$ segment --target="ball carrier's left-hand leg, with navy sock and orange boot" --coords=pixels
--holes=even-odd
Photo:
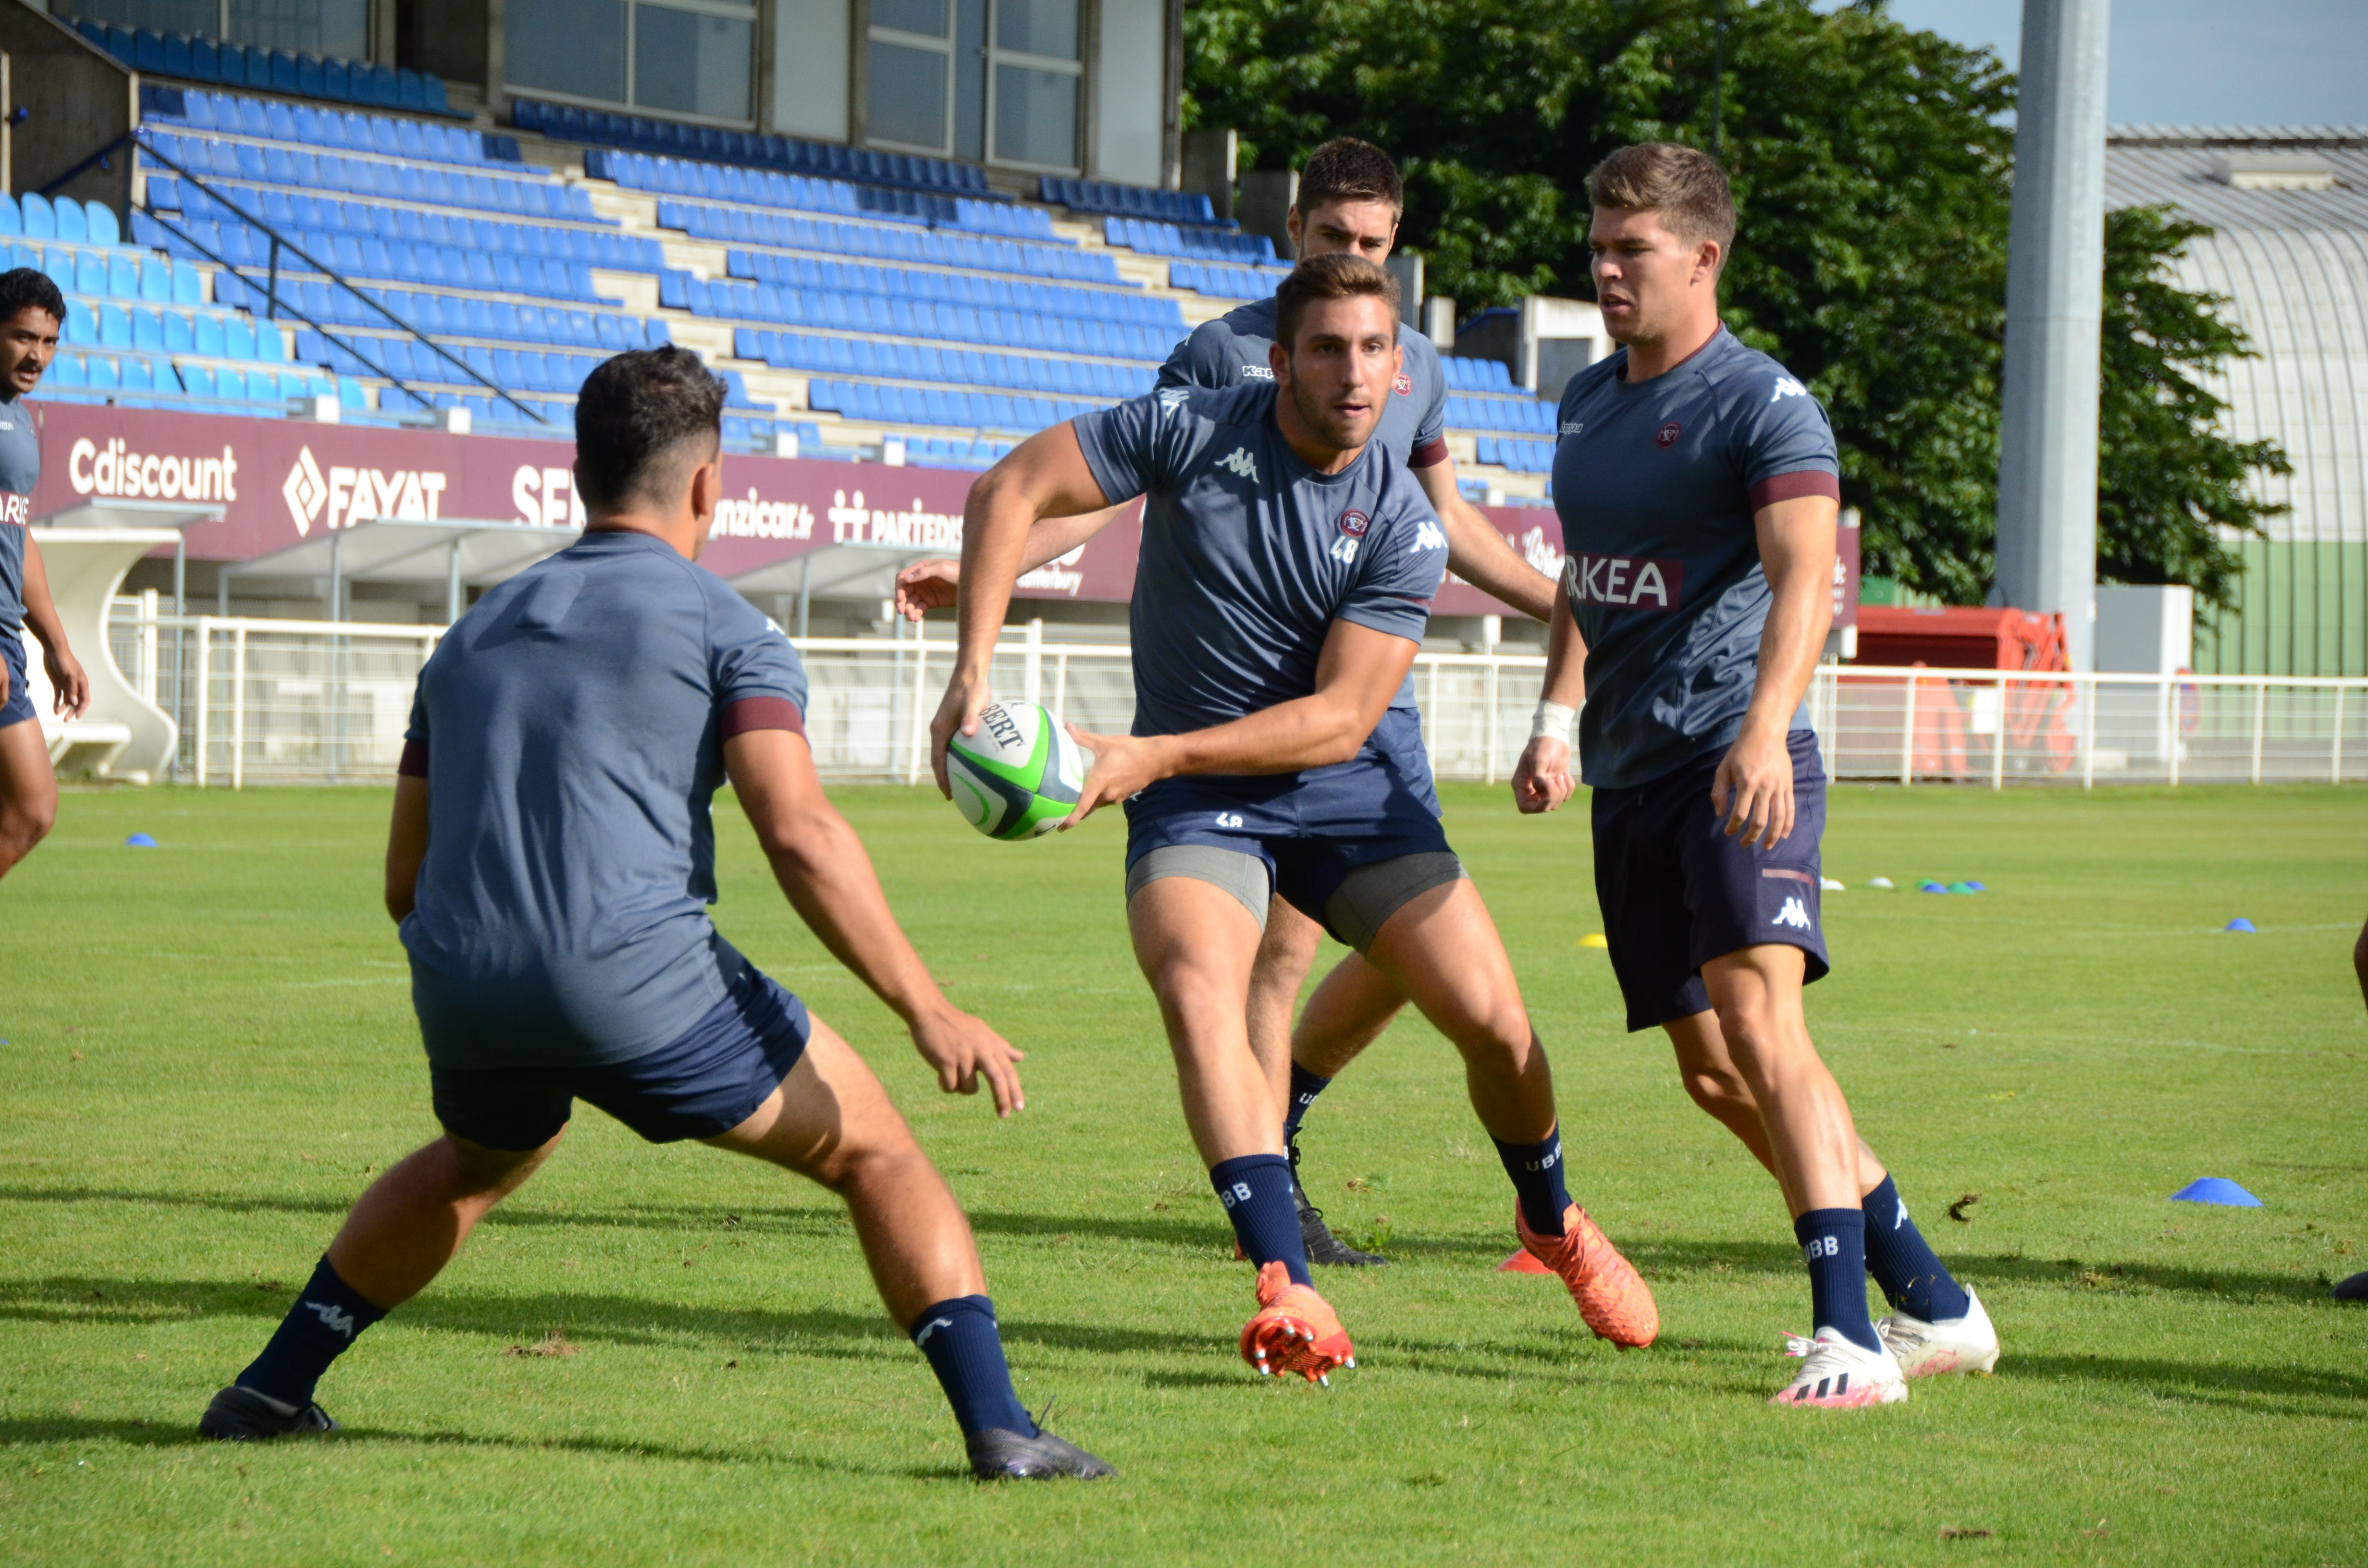
[[[1333,1367],[1357,1360],[1340,1319],[1307,1279],[1283,1113],[1250,1052],[1246,1004],[1257,919],[1215,883],[1160,876],[1127,900],[1127,928],[1167,1026],[1184,1125],[1234,1222],[1238,1251],[1257,1267],[1257,1315],[1241,1331],[1241,1357],[1260,1374],[1326,1381]]]

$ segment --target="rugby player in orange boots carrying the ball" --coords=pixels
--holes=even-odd
[[[1307,1279],[1283,1113],[1248,1042],[1274,895],[1456,1045],[1523,1246],[1563,1277],[1589,1329],[1650,1343],[1650,1291],[1563,1189],[1546,1054],[1428,775],[1409,765],[1418,739],[1390,732],[1447,564],[1421,486],[1373,441],[1404,365],[1397,284],[1357,256],[1302,261],[1276,291],[1267,365],[1272,381],[1163,388],[1042,431],[971,488],[961,651],[931,722],[938,786],[947,739],[976,732],[990,699],[1030,528],[1148,495],[1134,734],[1070,727],[1094,765],[1063,827],[1125,801],[1134,957],[1184,1120],[1257,1267],[1243,1360],[1310,1379],[1352,1364]]]

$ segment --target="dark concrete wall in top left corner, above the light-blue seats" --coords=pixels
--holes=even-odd
[[[140,123],[140,78],[21,0],[0,2],[0,54],[9,64],[9,114],[24,111],[7,137],[9,194],[45,189]],[[128,227],[133,161],[118,149],[54,194],[111,206]]]

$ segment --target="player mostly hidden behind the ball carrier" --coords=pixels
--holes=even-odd
[[[1364,256],[1381,265],[1397,244],[1404,204],[1407,187],[1390,154],[1371,142],[1333,137],[1317,147],[1307,156],[1307,168],[1300,171],[1298,199],[1286,216],[1291,244],[1300,258]],[[1397,343],[1404,351],[1404,365],[1390,386],[1373,441],[1414,471],[1447,533],[1447,568],[1520,613],[1549,621],[1553,616],[1553,580],[1513,554],[1504,535],[1456,490],[1456,464],[1447,455],[1447,377],[1440,372],[1437,348],[1404,324],[1397,329]],[[1260,298],[1236,306],[1217,320],[1201,322],[1189,339],[1177,343],[1160,367],[1160,386],[1227,391],[1243,381],[1272,381],[1274,369],[1267,362],[1272,346],[1274,301]],[[1028,533],[1021,571],[1068,554],[1101,533],[1113,516],[1118,516],[1115,509],[1044,519]],[[924,611],[954,604],[959,576],[959,561],[907,566],[897,573],[897,609],[919,621]],[[1430,756],[1421,746],[1421,713],[1414,708],[1411,677],[1390,701],[1385,730],[1407,741],[1399,760],[1411,777],[1421,779],[1416,791],[1430,798]],[[1435,801],[1433,810],[1437,810]],[[1291,1153],[1293,1177],[1300,1165],[1300,1118],[1404,1004],[1404,997],[1373,964],[1350,952],[1326,976],[1319,995],[1310,1000],[1298,1035],[1293,1035],[1291,1014],[1298,1007],[1300,985],[1317,962],[1321,938],[1324,928],[1276,893],[1267,910],[1267,933],[1260,940],[1257,962],[1250,969],[1250,1052],[1272,1080],[1276,1104],[1286,1106],[1283,1146]],[[1324,1225],[1324,1210],[1307,1201],[1307,1191],[1298,1182],[1293,1182],[1293,1203],[1310,1262],[1345,1267],[1385,1262],[1333,1236],[1331,1227]]]

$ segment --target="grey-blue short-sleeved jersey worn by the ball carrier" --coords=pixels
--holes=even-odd
[[[1274,381],[1167,386],[1075,419],[1111,502],[1148,495],[1134,566],[1134,734],[1224,725],[1317,689],[1333,621],[1423,640],[1447,535],[1383,443],[1317,474]]]

